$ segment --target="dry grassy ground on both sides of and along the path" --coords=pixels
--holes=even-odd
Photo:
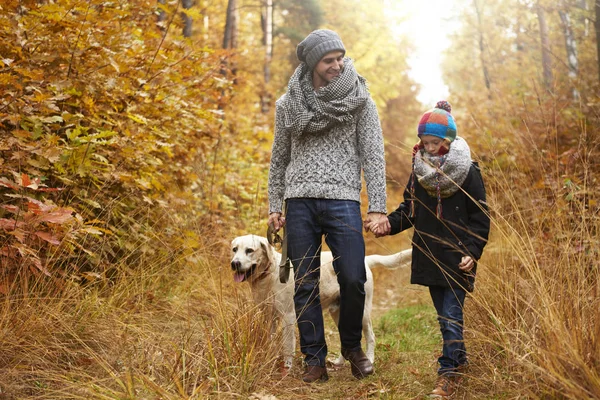
[[[509,175],[487,179],[492,236],[467,300],[471,369],[456,398],[600,398],[598,207],[580,194],[597,188],[515,191]],[[414,399],[432,388],[439,332],[408,270],[374,271],[376,374],[331,369],[329,382],[304,385],[300,354],[281,376],[280,338],[232,281],[226,236],[59,295],[44,281],[13,288],[0,300],[0,399]],[[409,236],[369,237],[368,252]],[[336,354],[328,320],[327,335]]]

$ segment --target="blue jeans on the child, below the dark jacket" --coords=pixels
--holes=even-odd
[[[463,336],[463,307],[467,292],[442,286],[430,286],[429,294],[438,314],[444,344],[438,375],[453,375],[467,364],[467,349]]]

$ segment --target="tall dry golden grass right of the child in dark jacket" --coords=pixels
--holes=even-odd
[[[490,387],[530,398],[600,398],[600,218],[589,162],[598,143],[582,135],[568,174],[544,162],[543,150],[526,148],[533,172],[487,177],[495,212],[466,314],[471,354]]]

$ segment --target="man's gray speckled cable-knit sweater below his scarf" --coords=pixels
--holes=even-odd
[[[290,133],[282,103],[275,111],[275,139],[269,170],[269,213],[282,212],[290,198],[360,202],[361,169],[368,212],[386,212],[385,158],[377,107],[371,98],[352,121],[321,133]]]

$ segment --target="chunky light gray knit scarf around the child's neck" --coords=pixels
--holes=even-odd
[[[443,156],[417,151],[414,173],[419,183],[432,197],[450,197],[465,182],[471,168],[471,149],[457,137]]]

